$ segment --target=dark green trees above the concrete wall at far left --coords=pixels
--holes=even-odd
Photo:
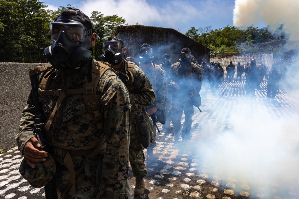
[[[38,0],[0,0],[0,60],[44,62],[43,50],[48,42],[47,7]]]

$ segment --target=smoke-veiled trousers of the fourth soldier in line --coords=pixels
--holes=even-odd
[[[170,115],[173,127],[176,131],[176,138],[179,138],[179,133],[181,131],[181,117],[183,112],[185,115],[185,122],[182,129],[182,138],[189,139],[192,126],[192,116],[194,114],[193,104],[191,104],[190,100],[187,102],[174,100],[170,109]]]

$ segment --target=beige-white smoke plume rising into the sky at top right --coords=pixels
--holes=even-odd
[[[299,1],[236,0],[233,22],[236,27],[248,27],[263,22],[271,33],[283,24],[290,41],[299,40]]]

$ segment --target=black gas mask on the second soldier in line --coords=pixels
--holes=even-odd
[[[123,45],[117,40],[109,40],[103,43],[104,54],[101,58],[104,62],[110,63],[112,66],[118,65],[124,58]]]

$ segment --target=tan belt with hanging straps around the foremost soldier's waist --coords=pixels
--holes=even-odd
[[[59,159],[59,157],[62,157],[65,167],[70,172],[71,182],[68,185],[68,187],[65,189],[65,192],[63,193],[61,198],[64,197],[64,195],[66,194],[66,192],[68,192],[68,190],[70,188],[71,188],[71,195],[75,196],[75,190],[76,190],[75,181],[78,178],[78,176],[81,175],[83,172],[85,172],[85,176],[91,177],[90,166],[91,166],[94,158],[97,156],[97,154],[101,150],[106,148],[107,144],[105,141],[106,141],[105,136],[103,136],[103,138],[100,141],[100,143],[98,144],[98,146],[96,146],[92,149],[86,149],[86,150],[67,150],[67,149],[60,149],[57,147],[52,148],[52,154],[55,157],[55,158],[53,157],[54,160]],[[71,156],[80,156],[80,155],[86,155],[87,157],[84,160],[81,168],[75,173],[74,163],[72,161]],[[103,159],[103,157],[104,157],[104,155],[102,156],[102,159]],[[101,161],[101,162],[103,163],[103,161]],[[102,170],[102,165],[100,165],[100,170]]]

